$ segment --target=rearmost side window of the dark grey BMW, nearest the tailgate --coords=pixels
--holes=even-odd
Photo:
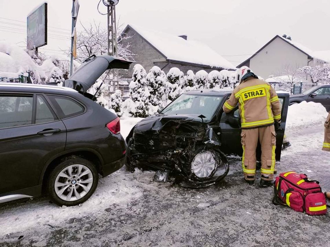
[[[55,107],[63,113],[62,118],[79,115],[84,112],[84,108],[78,102],[62,96],[49,96]]]

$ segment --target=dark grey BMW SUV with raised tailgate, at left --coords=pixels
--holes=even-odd
[[[0,83],[0,203],[46,191],[56,204],[74,206],[92,195],[98,174],[123,166],[119,118],[86,90],[105,70],[130,63],[93,56],[66,87]]]

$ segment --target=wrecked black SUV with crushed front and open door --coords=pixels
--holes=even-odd
[[[231,91],[189,91],[159,114],[137,123],[126,138],[126,166],[157,171],[155,178],[173,176],[182,186],[205,187],[223,179],[229,159],[242,157],[238,106],[229,114],[222,105]],[[276,160],[280,161],[289,94],[278,92],[282,105],[277,129]],[[260,161],[260,145],[257,160]]]

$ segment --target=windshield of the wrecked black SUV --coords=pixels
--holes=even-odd
[[[210,121],[219,106],[222,96],[202,96],[182,94],[161,113],[163,114],[198,114],[204,115],[203,121]]]

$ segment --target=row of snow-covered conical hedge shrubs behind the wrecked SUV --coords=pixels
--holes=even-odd
[[[136,64],[129,84],[130,96],[123,103],[123,115],[145,118],[160,112],[168,101],[190,90],[235,88],[235,73],[213,70],[208,74],[205,70],[200,70],[195,75],[192,70],[188,70],[184,75],[180,69],[173,67],[165,74],[154,66],[147,74],[140,64]]]

